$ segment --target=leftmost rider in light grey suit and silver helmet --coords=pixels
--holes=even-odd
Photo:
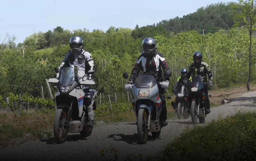
[[[95,72],[93,74],[86,74],[88,70],[94,69],[94,63],[92,60],[92,55],[83,50],[84,47],[84,40],[81,36],[74,36],[69,41],[69,46],[71,51],[68,52],[62,61],[60,67],[59,67],[59,73],[57,74],[57,77],[60,78],[60,74],[62,72],[62,69],[65,67],[72,67],[75,70],[75,79],[78,80],[78,82],[84,81],[84,80],[91,80],[95,77]],[[87,109],[87,117],[88,122],[86,125],[88,127],[93,127],[93,106],[91,101],[91,95],[90,95],[90,88],[89,86],[83,86],[84,91],[84,105]]]

